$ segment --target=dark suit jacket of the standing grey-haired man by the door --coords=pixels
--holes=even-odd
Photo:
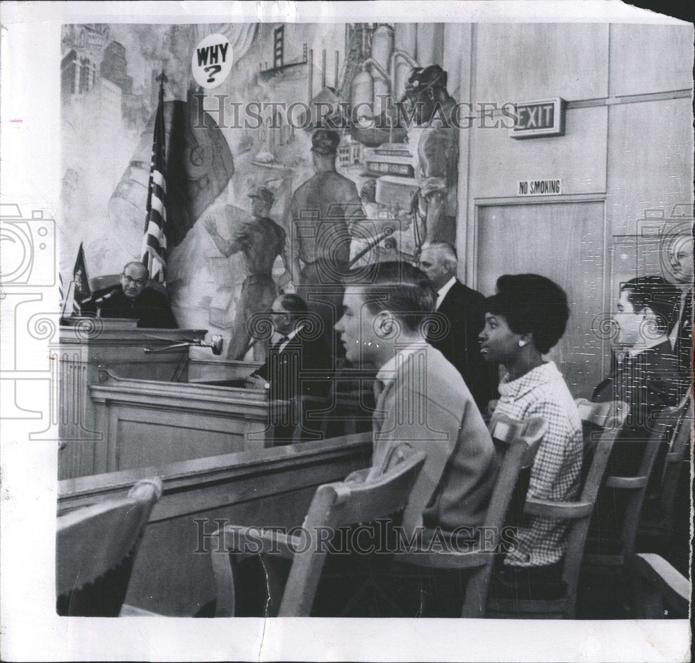
[[[432,333],[427,335],[427,342],[439,350],[464,378],[478,408],[483,411],[498,395],[498,369],[482,358],[478,342],[478,334],[485,326],[484,301],[480,292],[455,281],[436,310],[448,321],[445,335],[441,338]]]

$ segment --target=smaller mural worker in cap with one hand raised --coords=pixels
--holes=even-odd
[[[217,230],[213,218],[207,218],[205,229],[213,238],[215,246],[225,257],[241,253],[244,259],[246,279],[236,308],[231,338],[227,345],[227,359],[243,359],[253,341],[249,321],[254,314],[270,310],[277,297],[277,287],[272,280],[272,265],[279,255],[285,272],[279,285],[289,282],[290,273],[285,254],[285,231],[268,216],[275,196],[265,186],[259,186],[250,194],[252,218],[238,223],[231,239],[224,239]],[[254,360],[265,360],[265,343],[254,344]]]

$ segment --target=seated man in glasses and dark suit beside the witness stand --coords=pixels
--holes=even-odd
[[[321,409],[320,399],[330,385],[327,353],[317,332],[320,326],[309,318],[306,302],[296,294],[283,294],[272,303],[270,314],[280,340],[270,347],[265,364],[246,379],[246,386],[268,390],[269,421],[275,426],[277,446],[291,443],[298,425],[305,433],[316,433],[319,422],[308,414]],[[304,404],[299,397],[304,397]],[[285,416],[282,410],[275,411],[275,401],[290,401]],[[306,437],[318,439],[316,434]]]

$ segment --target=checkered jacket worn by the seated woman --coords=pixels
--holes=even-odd
[[[572,395],[555,363],[532,369],[514,381],[502,379],[493,420],[507,415],[523,421],[544,417],[548,432],[531,468],[528,497],[539,500],[573,500],[582,470],[582,422]],[[518,549],[507,554],[505,564],[546,566],[562,559],[567,524],[548,518],[530,518],[518,530]]]

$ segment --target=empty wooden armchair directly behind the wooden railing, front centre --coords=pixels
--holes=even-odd
[[[400,447],[395,449],[389,470],[375,481],[319,486],[302,525],[301,532],[307,532],[308,537],[236,525],[218,530],[213,536],[220,538],[221,545],[211,550],[217,593],[215,616],[239,614],[236,589],[243,577],[238,564],[257,556],[268,584],[266,616],[275,616],[276,611],[281,617],[309,616],[327,558],[327,541],[320,533],[336,532],[339,527],[372,522],[402,511],[425,463],[424,454],[406,457],[406,453]],[[286,583],[272,564],[266,564],[274,556],[291,561]]]

